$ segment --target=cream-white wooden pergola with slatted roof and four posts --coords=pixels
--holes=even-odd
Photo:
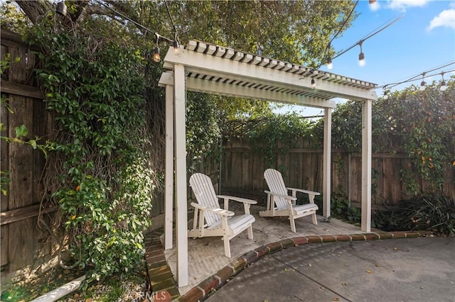
[[[178,287],[188,285],[186,177],[186,91],[264,99],[324,109],[323,216],[331,216],[331,112],[334,98],[363,102],[362,224],[371,225],[371,106],[377,84],[312,70],[225,47],[191,40],[177,55],[170,47],[159,85],[166,88],[166,191],[164,248],[173,247],[173,198],[176,203]],[[311,85],[311,79],[316,87]],[[174,179],[175,177],[175,179]],[[258,176],[260,177],[260,176]],[[174,182],[175,180],[175,182]],[[174,194],[175,193],[175,194]]]

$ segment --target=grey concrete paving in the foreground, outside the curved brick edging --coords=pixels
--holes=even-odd
[[[253,262],[207,301],[455,301],[455,237],[291,247]]]

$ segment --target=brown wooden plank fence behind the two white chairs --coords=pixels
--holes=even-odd
[[[286,148],[285,148],[286,149]],[[401,180],[402,169],[410,169],[411,160],[405,154],[376,153],[372,155],[372,207],[394,206],[407,199],[406,188]],[[264,181],[266,166],[264,155],[253,152],[250,145],[241,139],[231,139],[225,145],[225,155],[221,164],[220,183],[223,194],[233,194],[252,198],[265,204]],[[309,148],[303,140],[298,140],[287,152],[277,151],[277,160],[272,167],[283,173],[285,184],[290,187],[321,191],[323,185],[322,150]],[[353,206],[360,207],[362,182],[361,155],[334,150],[331,164],[332,194],[341,189]],[[444,177],[444,193],[455,196],[455,169],[447,164]],[[419,188],[427,184],[416,179]]]

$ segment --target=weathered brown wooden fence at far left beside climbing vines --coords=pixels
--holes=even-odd
[[[1,136],[15,138],[15,128],[25,125],[28,129],[26,140],[36,136],[46,138],[50,131],[48,113],[41,91],[34,85],[33,68],[35,55],[16,35],[1,29],[1,60],[9,57],[9,68],[1,74],[1,98],[5,101],[0,108],[4,130]],[[37,228],[38,214],[43,223],[56,208],[41,208],[43,184],[41,175],[45,167],[43,152],[33,150],[30,145],[18,142],[0,142],[1,171],[9,174],[9,194],[1,194],[1,271],[2,277],[9,272],[36,264],[38,255],[43,258],[50,254],[50,242],[43,240],[43,233]]]

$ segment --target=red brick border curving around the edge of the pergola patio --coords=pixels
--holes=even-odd
[[[255,250],[246,252],[245,254],[232,259],[228,265],[220,269],[212,276],[209,276],[204,281],[200,282],[200,284],[197,286],[194,286],[193,289],[185,293],[183,296],[180,296],[172,274],[171,276],[168,274],[171,269],[169,268],[167,262],[159,262],[161,264],[161,267],[159,268],[156,267],[157,263],[153,262],[153,260],[156,259],[156,256],[164,255],[164,247],[161,245],[159,237],[157,237],[156,234],[151,234],[147,237],[148,240],[146,240],[146,245],[149,246],[146,247],[146,263],[151,284],[155,290],[154,296],[162,296],[161,292],[167,292],[168,295],[171,296],[172,301],[197,302],[204,301],[212,293],[220,289],[224,284],[226,284],[226,282],[242,272],[253,262],[257,262],[259,259],[262,259],[262,257],[274,252],[286,250],[289,247],[306,245],[308,243],[416,238],[425,237],[431,234],[432,232],[429,231],[385,232],[382,230],[373,230],[371,233],[358,233],[349,235],[308,235],[270,242],[267,245],[262,245],[260,247],[257,247]],[[158,275],[156,275],[158,272],[157,269],[160,272]],[[161,276],[164,278],[160,278]]]

